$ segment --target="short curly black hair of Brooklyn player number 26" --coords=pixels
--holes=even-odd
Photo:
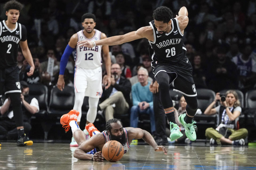
[[[173,18],[173,11],[166,6],[160,6],[156,8],[153,12],[153,19],[157,21],[163,21],[163,23],[168,23],[171,18]]]

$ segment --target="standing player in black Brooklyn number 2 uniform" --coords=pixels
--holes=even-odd
[[[13,103],[14,120],[18,130],[17,146],[33,145],[24,134],[23,113],[21,109],[21,85],[19,82],[19,69],[17,67],[18,48],[29,63],[28,76],[34,73],[34,62],[27,46],[26,27],[18,23],[19,12],[23,5],[17,1],[8,1],[4,5],[7,20],[0,22],[0,99],[5,88],[5,95]],[[1,145],[1,144],[0,144]]]

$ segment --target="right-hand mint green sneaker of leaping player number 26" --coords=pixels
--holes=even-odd
[[[192,123],[187,124],[185,122],[185,116],[186,113],[179,115],[179,122],[181,122],[181,124],[184,126],[185,128],[185,133],[187,135],[187,137],[191,140],[194,141],[195,139],[197,139],[197,134],[195,134],[195,128],[197,127],[196,125],[194,125],[195,121],[192,120]]]

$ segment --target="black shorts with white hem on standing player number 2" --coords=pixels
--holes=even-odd
[[[21,93],[19,69],[17,66],[0,69],[0,97],[2,97],[3,91],[5,91],[5,94]]]

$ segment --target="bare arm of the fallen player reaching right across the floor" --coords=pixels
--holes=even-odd
[[[154,138],[152,137],[152,135],[146,130],[142,130],[140,128],[132,128],[132,127],[128,127],[125,129],[127,130],[129,142],[132,141],[132,139],[143,139],[150,146],[152,146],[155,151],[163,151],[165,155],[167,155],[167,149],[163,146],[158,146]]]

